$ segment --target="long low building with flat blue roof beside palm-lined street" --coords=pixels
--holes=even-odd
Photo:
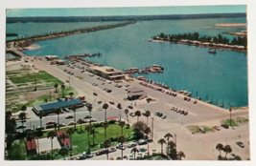
[[[58,108],[71,108],[72,106],[83,107],[80,99],[74,98],[70,100],[58,100],[57,102],[51,102],[46,104],[33,105],[33,111],[35,114],[42,113],[43,115],[55,113]]]

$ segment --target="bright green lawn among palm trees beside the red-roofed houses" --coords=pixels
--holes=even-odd
[[[66,131],[71,127],[67,128],[61,128],[60,131]],[[74,135],[71,136],[72,144],[74,146],[73,149],[73,155],[78,155],[83,152],[88,151],[88,133],[84,132],[85,125],[77,126],[77,131],[74,133]],[[94,140],[93,144],[93,136],[89,135],[90,140],[90,151],[97,151],[101,149],[99,147],[99,144],[104,143],[105,141],[105,129],[103,127],[95,128],[97,134]],[[43,137],[46,137],[49,132],[45,132]],[[128,134],[132,133],[132,129],[123,129],[123,134],[128,137]],[[117,124],[110,124],[108,128],[106,129],[106,138],[109,139],[110,137],[118,137],[121,135],[121,127]],[[117,145],[118,142],[111,142],[112,146]]]

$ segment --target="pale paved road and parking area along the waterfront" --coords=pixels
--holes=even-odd
[[[29,58],[30,61],[33,59],[33,57]],[[103,81],[98,80],[96,76],[91,77],[88,75],[88,73],[81,73],[81,70],[70,69],[67,66],[51,66],[39,60],[35,60],[33,63],[35,64],[36,68],[45,70],[47,73],[57,76],[58,79],[62,80],[63,82],[69,80],[70,77],[71,87],[78,91],[78,95],[85,95],[87,101],[91,103],[94,102],[94,108],[98,107],[95,100],[102,100],[105,102],[114,101],[115,106],[109,105],[109,109],[107,111],[109,115],[118,116],[116,103],[122,103],[123,108],[127,108],[128,105],[131,104],[131,101],[124,100],[124,98],[127,97],[127,92],[125,91],[126,88],[124,88],[124,86],[122,88],[116,88],[114,87],[113,83],[105,83],[105,85],[102,85]],[[62,71],[64,69],[74,72],[74,75],[63,73]],[[83,79],[81,80],[75,76],[81,76]],[[97,83],[98,86],[92,86],[92,83]],[[126,83],[123,83],[123,85],[125,84]],[[177,135],[177,150],[185,153],[186,157],[184,159],[216,160],[219,152],[215,150],[215,146],[218,143],[222,143],[224,145],[230,144],[233,148],[234,154],[241,156],[244,160],[249,157],[249,145],[247,144],[247,142],[249,142],[249,133],[247,124],[235,128],[235,130],[223,130],[221,128],[220,132],[212,132],[205,135],[192,135],[191,132],[187,130],[187,126],[192,124],[210,127],[214,125],[220,126],[221,119],[229,117],[229,112],[227,110],[200,101],[198,101],[198,104],[193,104],[191,101],[184,101],[183,96],[180,94],[174,97],[165,93],[155,92],[149,88],[139,85],[138,81],[129,82],[128,84],[147,91],[151,98],[155,98],[157,100],[151,103],[147,103],[145,100],[137,101],[137,105],[134,107],[134,109],[129,110],[129,112],[133,112],[135,110],[140,110],[142,112],[144,110],[150,110],[151,114],[161,112],[167,115],[166,119],[161,119],[155,115],[151,115],[151,117],[153,117],[152,131],[154,142],[151,144],[153,149],[160,152],[160,145],[157,144],[157,140],[162,138],[166,133],[171,133],[173,135]],[[103,91],[104,88],[111,89],[112,93],[105,93],[105,91]],[[98,93],[97,97],[92,94],[94,92]],[[134,105],[134,102],[132,103]],[[172,106],[186,110],[189,112],[189,114],[177,114],[171,111]],[[83,114],[82,116],[84,116],[86,111],[82,111],[81,109],[81,112],[78,111],[78,114],[80,113]],[[62,115],[61,122],[62,120],[65,120],[64,116],[65,114]],[[97,112],[97,109],[95,109],[93,116],[101,120],[104,117],[104,114],[101,111]],[[237,116],[248,117],[248,111],[234,111],[232,116],[233,118]],[[151,124],[152,121],[151,117],[149,118],[149,124]],[[50,118],[56,118],[56,116]],[[122,114],[122,118],[126,119],[126,115]],[[44,119],[43,123],[45,123],[47,120]],[[128,120],[132,124],[137,121],[137,118],[128,116]],[[145,116],[141,116],[140,120],[146,122],[147,119]],[[35,119],[35,123],[38,124],[36,121],[38,120]],[[236,145],[239,135],[243,135],[241,141],[243,141],[245,144],[244,149],[240,149]]]

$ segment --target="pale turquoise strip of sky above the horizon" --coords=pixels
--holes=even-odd
[[[30,16],[113,16],[160,15],[246,12],[245,5],[187,6],[187,7],[137,7],[137,8],[80,8],[80,9],[7,9],[7,17]]]

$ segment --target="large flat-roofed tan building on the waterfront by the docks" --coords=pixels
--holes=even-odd
[[[118,80],[118,79],[125,79],[125,75],[123,72],[118,71],[114,68],[110,67],[91,67],[87,70],[88,72],[94,73],[96,75],[99,75],[101,77],[104,77],[105,79],[109,80]]]

